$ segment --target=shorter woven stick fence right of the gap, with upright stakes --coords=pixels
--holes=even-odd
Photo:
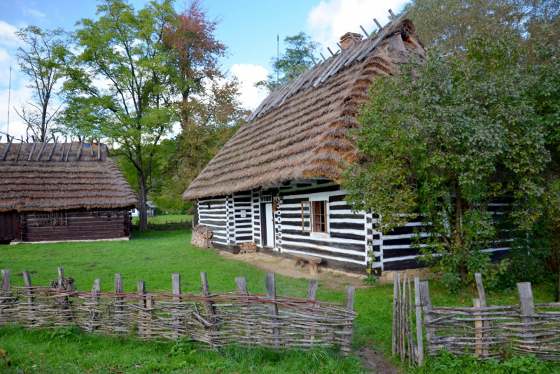
[[[480,273],[475,274],[479,297],[472,307],[432,305],[428,282],[395,273],[393,288],[393,355],[402,363],[422,365],[441,350],[476,354],[479,359],[504,359],[507,354],[535,354],[560,362],[560,303],[534,303],[530,282],[517,283],[519,304],[486,305]],[[423,317],[422,317],[423,316]],[[423,322],[422,322],[423,319]],[[416,339],[414,338],[416,335]],[[424,347],[425,345],[425,347]]]

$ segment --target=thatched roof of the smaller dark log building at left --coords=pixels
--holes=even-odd
[[[0,143],[0,212],[137,206],[105,145],[98,153],[97,144],[57,143],[51,156],[54,144],[13,143],[3,159],[8,143]]]

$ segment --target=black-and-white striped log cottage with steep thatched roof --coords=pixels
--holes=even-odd
[[[377,216],[351,211],[337,180],[344,161],[359,159],[347,138],[376,75],[391,74],[426,51],[409,20],[367,38],[348,33],[342,52],[278,87],[191,183],[200,224],[214,246],[254,242],[262,252],[311,255],[321,266],[365,273],[419,268],[410,247],[414,225],[382,234]]]

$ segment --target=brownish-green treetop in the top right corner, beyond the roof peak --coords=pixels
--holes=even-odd
[[[524,35],[520,43],[560,46],[559,0],[412,0],[404,10],[421,41],[444,53],[465,52],[474,35],[500,38],[512,32]]]

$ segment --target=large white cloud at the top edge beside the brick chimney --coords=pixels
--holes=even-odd
[[[363,34],[361,24],[370,33],[377,29],[374,18],[385,25],[388,22],[388,10],[397,13],[405,3],[407,0],[321,0],[307,15],[307,28],[315,41],[335,52],[338,49],[336,43],[346,32]]]

